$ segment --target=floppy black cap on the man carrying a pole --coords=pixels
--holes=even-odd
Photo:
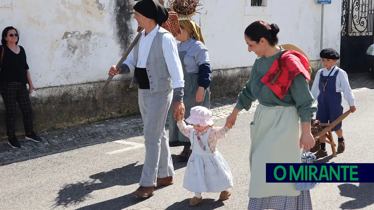
[[[140,0],[134,5],[134,10],[146,18],[155,20],[160,26],[169,18],[168,10],[155,0]]]

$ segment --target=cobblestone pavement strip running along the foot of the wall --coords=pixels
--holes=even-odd
[[[349,77],[353,92],[374,89],[374,80],[369,79],[365,74],[349,75]],[[227,117],[235,103],[236,98],[212,101],[212,119]],[[258,101],[255,101],[251,109],[242,110],[239,114],[254,112],[257,104]],[[166,129],[168,129],[168,122],[166,122]],[[131,116],[44,132],[40,134],[41,142],[21,140],[21,149],[13,149],[6,144],[6,140],[3,140],[0,142],[0,165],[140,135],[143,135],[143,122],[140,116]]]

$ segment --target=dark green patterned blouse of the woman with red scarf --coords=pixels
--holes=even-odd
[[[281,51],[283,48],[281,47]],[[279,53],[281,53],[279,51]],[[301,117],[301,122],[310,122],[317,107],[313,106],[313,96],[310,93],[309,85],[305,77],[299,73],[292,80],[287,94],[280,99],[269,87],[260,81],[269,71],[273,62],[278,58],[279,53],[271,57],[258,57],[253,64],[249,81],[246,82],[243,91],[238,95],[235,108],[238,110],[249,110],[252,102],[256,99],[267,107],[273,106],[295,106]]]

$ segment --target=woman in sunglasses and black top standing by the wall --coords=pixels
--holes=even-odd
[[[5,105],[7,143],[13,148],[21,148],[14,130],[16,103],[23,115],[25,138],[35,142],[41,141],[33,131],[33,116],[29,98],[29,93],[31,90],[35,90],[35,87],[31,81],[25,50],[17,45],[18,41],[19,32],[17,29],[9,26],[3,30],[0,47],[0,94]],[[27,84],[30,87],[29,91],[27,91]]]

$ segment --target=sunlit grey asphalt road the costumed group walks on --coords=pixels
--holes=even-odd
[[[374,90],[355,93],[355,97],[357,111],[343,121],[346,151],[332,158],[327,147],[330,156],[318,162],[374,162]],[[347,110],[347,103],[344,106]],[[227,139],[218,144],[234,178],[233,194],[227,201],[218,201],[219,194],[203,193],[200,206],[188,206],[193,194],[182,187],[186,163],[175,160],[181,148],[171,149],[176,172],[174,185],[157,189],[148,199],[132,197],[131,192],[138,187],[145,153],[143,138],[134,137],[125,141],[138,144],[107,142],[0,166],[0,209],[245,210],[250,176],[248,124],[252,118],[253,113],[239,115]],[[224,119],[215,122],[216,125],[223,123]],[[334,138],[336,141],[335,134]],[[316,210],[374,209],[374,183],[323,183],[311,194]]]

